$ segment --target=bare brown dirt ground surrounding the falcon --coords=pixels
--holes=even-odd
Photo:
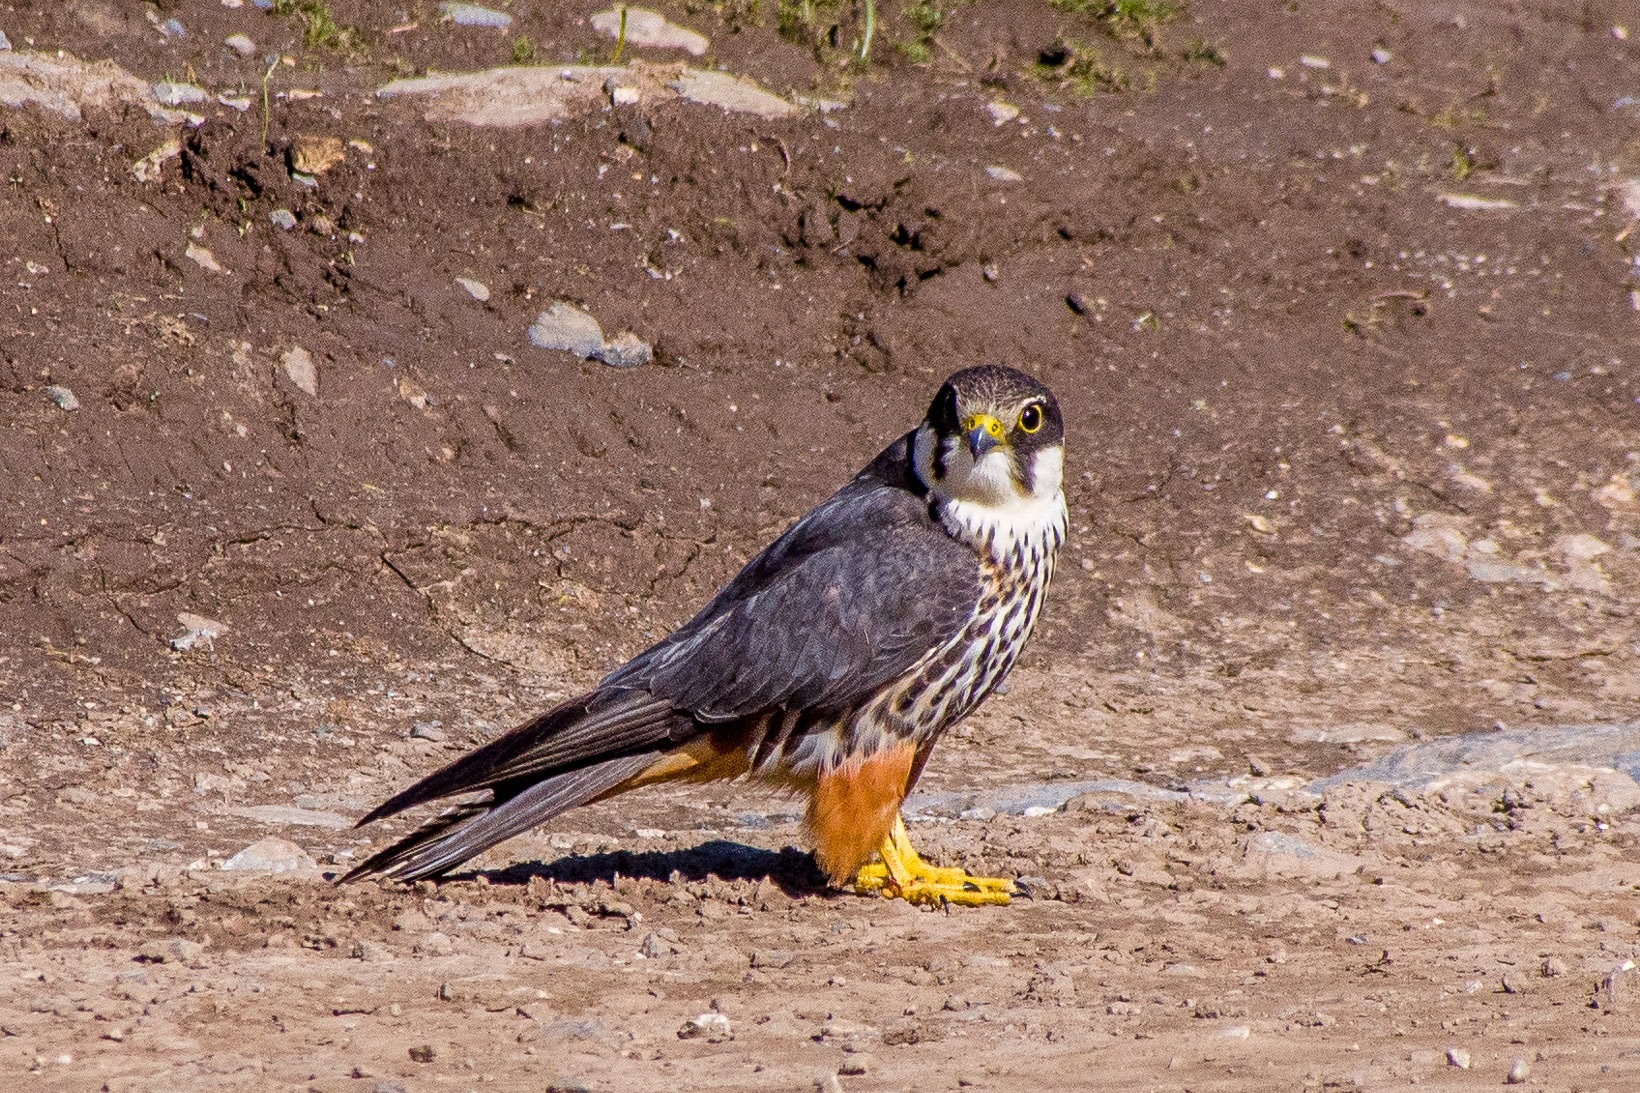
[[[800,108],[377,95],[617,61],[492,7],[0,3],[0,89],[125,87],[0,105],[0,1073],[1640,1088],[1635,752],[1315,784],[1640,720],[1640,11],[877,3],[859,62],[864,5],[686,0],[704,57],[618,61]],[[912,834],[1032,899],[828,893],[741,786],[325,880],[982,361],[1059,394],[1073,543]]]

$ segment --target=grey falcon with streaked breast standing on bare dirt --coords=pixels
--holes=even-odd
[[[440,876],[581,804],[746,778],[805,799],[835,886],[1007,903],[1005,878],[923,862],[900,804],[1036,625],[1066,535],[1063,473],[1048,387],[1000,366],[953,374],[922,423],[674,633],[371,811],[361,825],[469,794],[343,880]]]

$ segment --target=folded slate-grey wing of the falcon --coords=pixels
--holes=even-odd
[[[602,686],[643,689],[702,722],[843,709],[954,638],[981,594],[977,558],[927,502],[858,479]]]

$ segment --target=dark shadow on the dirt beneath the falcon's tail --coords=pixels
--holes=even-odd
[[[620,876],[667,883],[759,881],[769,880],[790,898],[830,891],[812,853],[786,847],[763,850],[727,839],[713,839],[682,850],[612,850],[567,855],[553,862],[520,862],[500,870],[474,870],[451,880],[485,878],[492,885],[528,885],[535,878],[561,885],[615,883]]]

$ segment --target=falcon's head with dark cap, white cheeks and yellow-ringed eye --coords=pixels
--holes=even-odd
[[[933,397],[912,455],[922,482],[950,501],[991,509],[1058,504],[1064,473],[1059,404],[1025,373],[964,368]]]

